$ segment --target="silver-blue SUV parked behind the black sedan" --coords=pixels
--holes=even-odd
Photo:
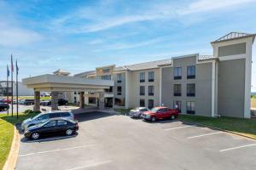
[[[40,113],[37,116],[28,118],[21,123],[21,129],[26,130],[27,127],[32,127],[40,123],[46,122],[51,118],[63,117],[68,120],[74,120],[73,113],[71,111],[52,111],[47,113]]]

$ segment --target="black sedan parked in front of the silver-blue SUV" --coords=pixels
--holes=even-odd
[[[63,118],[49,119],[47,122],[28,127],[24,133],[26,138],[38,139],[41,136],[65,133],[72,135],[79,130],[79,124],[76,121]]]

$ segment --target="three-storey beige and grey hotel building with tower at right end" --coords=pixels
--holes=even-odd
[[[212,55],[188,54],[135,65],[97,67],[74,77],[113,80],[105,106],[133,108],[165,105],[184,114],[250,117],[254,34],[231,32],[211,42]],[[79,102],[78,93],[71,95]],[[97,105],[87,92],[85,105]]]

